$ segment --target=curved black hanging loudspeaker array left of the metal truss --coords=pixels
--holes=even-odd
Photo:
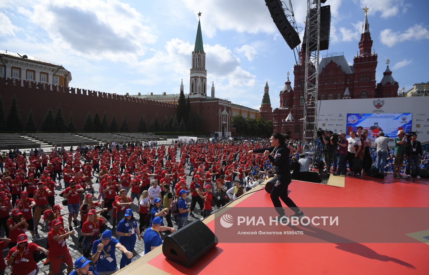
[[[283,36],[284,41],[286,41],[290,49],[298,46],[301,43],[301,39],[299,39],[298,33],[287,20],[281,1],[265,0],[265,4],[271,14],[272,21],[274,21],[281,36]]]

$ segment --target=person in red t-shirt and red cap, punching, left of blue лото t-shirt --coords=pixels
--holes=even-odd
[[[66,245],[66,239],[73,235],[75,231],[66,232],[63,223],[59,219],[52,221],[52,229],[48,233],[49,261],[51,263],[51,272],[48,275],[55,275],[60,272],[61,263],[67,265],[67,274],[73,271],[73,261],[69,249]]]

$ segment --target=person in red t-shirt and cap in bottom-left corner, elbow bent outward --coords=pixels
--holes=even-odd
[[[33,258],[34,251],[43,252],[46,256],[49,255],[49,251],[34,242],[28,242],[25,233],[19,235],[17,241],[18,244],[12,247],[6,256],[7,265],[12,265],[12,275],[34,274],[37,268]]]

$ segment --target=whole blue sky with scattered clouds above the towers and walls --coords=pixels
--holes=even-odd
[[[305,2],[292,1],[299,27],[304,26]],[[400,88],[429,81],[427,1],[326,4],[332,13],[329,53],[344,52],[353,62],[362,8],[368,6],[377,82],[386,59]],[[278,107],[279,91],[287,71],[292,75],[295,59],[263,0],[2,0],[0,49],[63,64],[72,73],[71,87],[118,94],[179,93],[183,78],[186,93],[199,11],[207,82],[215,82],[216,96],[259,108],[268,80],[272,107]]]

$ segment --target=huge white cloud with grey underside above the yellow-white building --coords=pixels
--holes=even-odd
[[[130,62],[156,42],[156,30],[130,5],[118,0],[37,1],[18,12],[46,30],[57,48],[91,59]]]

